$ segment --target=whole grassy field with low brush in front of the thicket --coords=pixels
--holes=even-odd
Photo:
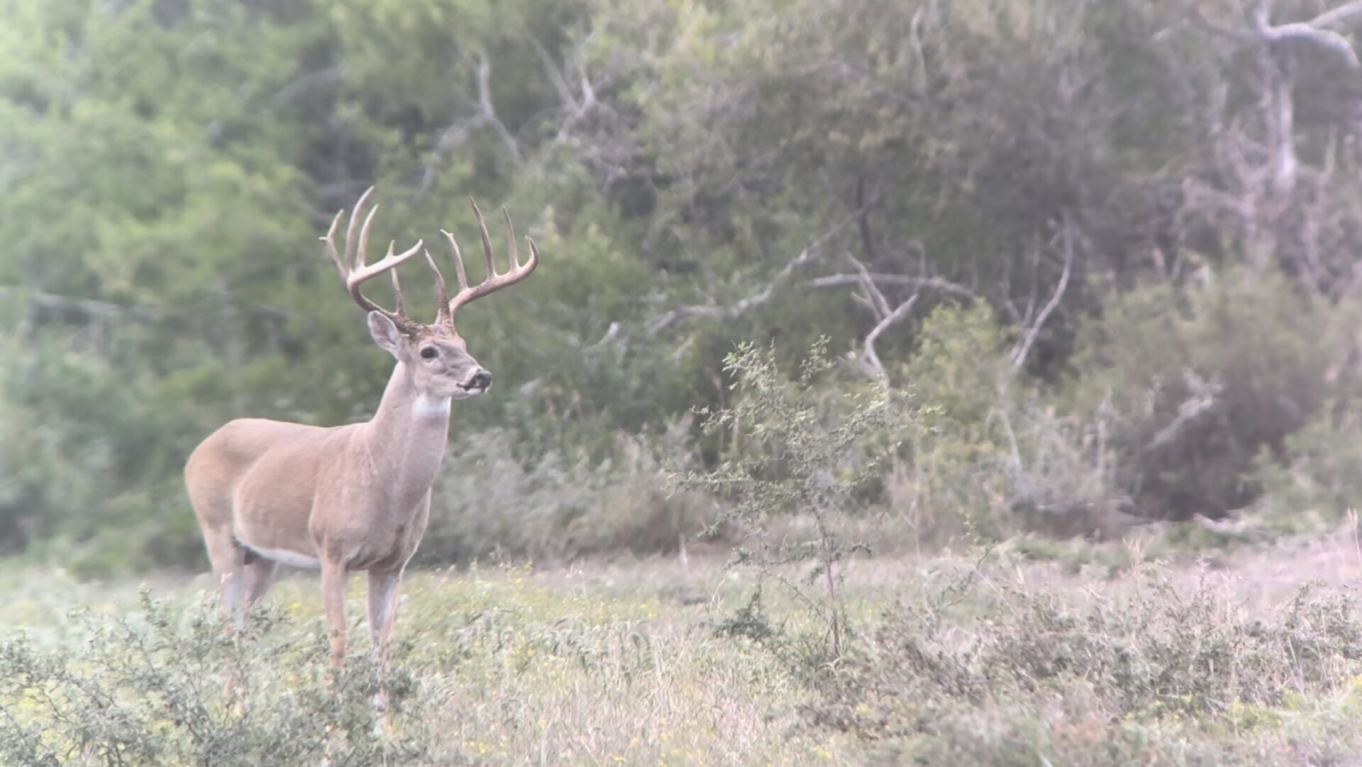
[[[1352,530],[1171,563],[1139,545],[1030,549],[853,561],[857,640],[820,673],[798,668],[798,643],[716,635],[756,579],[716,559],[417,572],[396,628],[406,703],[375,737],[353,707],[351,742],[379,745],[332,763],[418,763],[411,747],[440,764],[1362,764]],[[248,647],[251,706],[276,719],[221,699],[218,632],[193,628],[207,587],[0,574],[7,763],[249,763],[230,738],[305,729],[289,717],[336,695],[316,578],[275,586]],[[799,636],[808,616],[768,594],[774,625]],[[355,578],[360,668],[362,604]],[[118,752],[118,737],[146,742]]]

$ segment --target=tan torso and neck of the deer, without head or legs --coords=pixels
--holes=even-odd
[[[407,377],[398,365],[364,424],[241,418],[203,440],[185,480],[208,548],[294,567],[405,564],[425,531],[449,432],[449,401],[415,395]]]

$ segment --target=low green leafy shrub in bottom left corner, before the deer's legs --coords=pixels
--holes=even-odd
[[[75,614],[79,642],[0,642],[5,764],[428,764],[429,732],[410,673],[387,680],[394,732],[372,698],[376,669],[327,665],[324,633],[257,613],[227,633],[200,604],[181,614],[143,591],[139,612]],[[232,692],[223,681],[230,680]]]

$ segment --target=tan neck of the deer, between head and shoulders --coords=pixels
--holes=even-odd
[[[430,489],[449,437],[449,398],[418,392],[406,365],[398,362],[383,391],[379,410],[362,424],[364,439],[380,475],[391,477],[391,499],[409,508]]]

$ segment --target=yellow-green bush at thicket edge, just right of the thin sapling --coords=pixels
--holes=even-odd
[[[940,307],[922,322],[902,377],[926,428],[904,432],[885,480],[885,544],[1121,530],[1103,410],[1057,409],[1013,373],[1007,342],[986,307]]]

